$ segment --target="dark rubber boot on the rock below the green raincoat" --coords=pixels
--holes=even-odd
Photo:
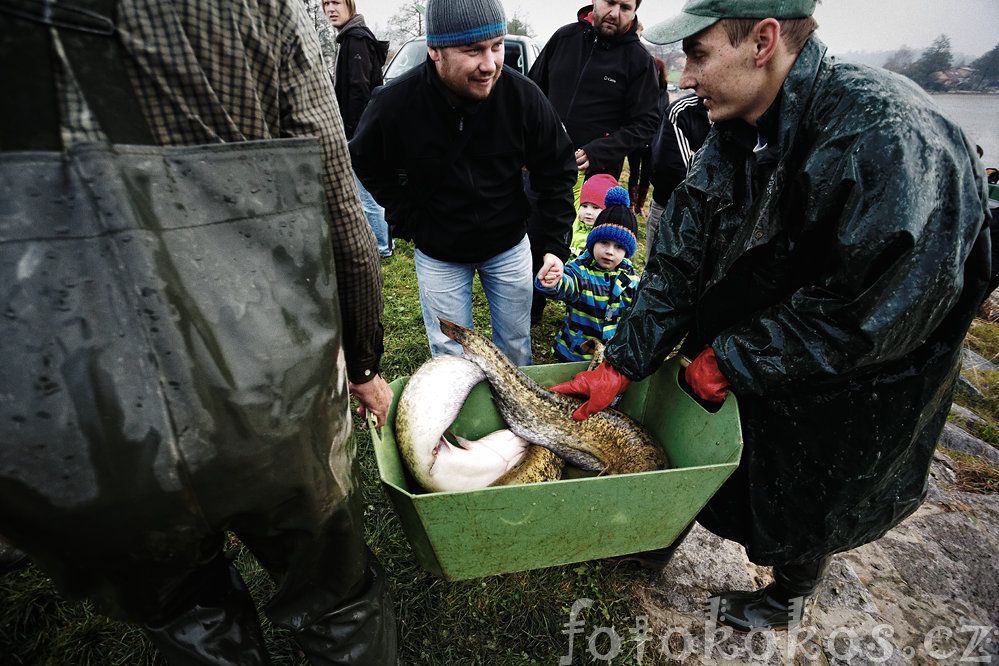
[[[753,592],[723,592],[708,599],[708,615],[739,633],[754,629],[786,630],[801,622],[805,598],[822,580],[829,563],[823,557],[804,564],[774,567],[774,582]]]

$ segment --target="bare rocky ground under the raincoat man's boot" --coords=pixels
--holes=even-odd
[[[982,362],[966,352],[965,368]],[[940,449],[999,465],[999,450],[962,429],[975,419],[955,405]],[[954,469],[938,449],[920,509],[878,541],[835,556],[788,632],[732,634],[706,622],[712,594],[772,578],[741,546],[695,526],[639,590],[645,652],[684,664],[999,664],[999,495],[961,491]]]

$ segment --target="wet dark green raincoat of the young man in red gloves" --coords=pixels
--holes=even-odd
[[[745,447],[698,521],[759,564],[919,506],[989,276],[973,144],[907,80],[825,50],[812,37],[784,82],[773,165],[744,122],[715,127],[606,350],[637,380],[681,340],[714,348]]]

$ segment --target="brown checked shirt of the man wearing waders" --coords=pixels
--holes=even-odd
[[[343,124],[301,0],[129,0],[117,24],[160,145],[317,136],[352,382],[378,372],[382,274]]]

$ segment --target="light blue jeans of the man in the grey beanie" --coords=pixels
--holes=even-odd
[[[461,345],[441,333],[439,318],[466,328],[472,323],[472,279],[475,272],[489,302],[493,342],[514,365],[531,365],[531,244],[524,236],[517,245],[476,264],[438,261],[415,252],[423,325],[434,356],[461,356]]]

